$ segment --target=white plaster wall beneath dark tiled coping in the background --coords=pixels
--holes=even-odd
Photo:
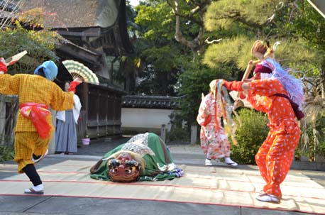
[[[161,128],[170,122],[169,109],[136,109],[122,108],[122,128]]]

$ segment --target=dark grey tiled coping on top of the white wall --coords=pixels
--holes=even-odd
[[[124,96],[122,107],[144,109],[177,109],[178,97]]]

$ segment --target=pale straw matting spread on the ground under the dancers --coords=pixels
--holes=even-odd
[[[122,184],[92,180],[89,177],[92,165],[91,161],[67,160],[38,168],[45,195],[190,202],[325,214],[325,188],[305,175],[287,175],[281,186],[281,203],[268,204],[255,200],[264,184],[258,170],[182,165],[184,177],[175,180]],[[1,172],[12,167],[3,165]],[[31,187],[31,182],[26,175],[15,174],[2,178],[0,185],[0,195],[21,195],[24,189]]]

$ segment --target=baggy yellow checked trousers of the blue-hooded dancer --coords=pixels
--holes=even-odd
[[[53,132],[50,132],[50,138],[42,139],[38,132],[18,132],[15,133],[15,161],[18,163],[18,172],[23,173],[23,167],[33,164],[32,156],[43,155],[48,149],[48,144]]]

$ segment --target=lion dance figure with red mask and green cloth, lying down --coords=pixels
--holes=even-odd
[[[112,182],[172,180],[182,177],[167,146],[155,133],[133,136],[90,169],[93,179]]]

